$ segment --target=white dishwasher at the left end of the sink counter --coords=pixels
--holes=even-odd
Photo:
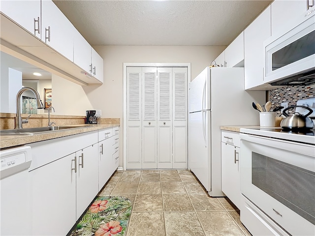
[[[32,235],[31,147],[0,151],[0,235]]]

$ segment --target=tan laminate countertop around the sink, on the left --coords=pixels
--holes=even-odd
[[[56,139],[65,136],[70,136],[74,134],[80,134],[105,128],[111,128],[115,126],[119,126],[119,123],[111,123],[111,124],[80,124],[73,126],[82,126],[79,128],[73,129],[62,129],[62,130],[54,130],[54,131],[46,131],[45,133],[39,134],[31,134],[31,135],[1,135],[0,136],[0,148],[9,148],[19,145],[25,145],[35,142],[40,142],[44,140]],[[70,125],[67,125],[70,126]]]

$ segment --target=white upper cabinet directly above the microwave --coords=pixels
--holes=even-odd
[[[315,10],[314,0],[274,0],[271,3],[271,35],[281,36],[306,20]]]

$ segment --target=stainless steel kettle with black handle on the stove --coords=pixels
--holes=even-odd
[[[285,112],[294,107],[302,107],[307,110],[309,110],[309,113],[306,115],[302,115],[298,112],[294,112],[292,115],[287,115]],[[313,129],[314,128],[314,123],[311,118],[308,116],[313,113],[313,110],[311,108],[305,107],[305,106],[290,106],[284,109],[282,112],[285,118],[281,121],[280,126],[283,129]]]

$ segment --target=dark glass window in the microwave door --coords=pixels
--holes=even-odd
[[[315,30],[272,54],[272,70],[315,54]]]

